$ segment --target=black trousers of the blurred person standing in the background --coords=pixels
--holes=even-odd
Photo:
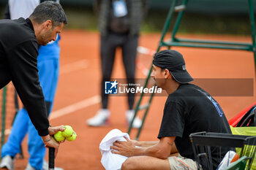
[[[107,36],[101,36],[100,40],[102,109],[107,109],[108,94],[105,94],[105,81],[110,81],[117,47],[121,47],[122,50],[127,83],[135,83],[135,59],[137,55],[138,36],[110,32]],[[129,93],[129,109],[133,109],[134,101],[135,94]]]

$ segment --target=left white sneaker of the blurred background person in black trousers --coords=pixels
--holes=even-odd
[[[108,117],[110,117],[110,111],[108,109],[99,109],[94,117],[87,120],[87,124],[91,126],[108,125]]]

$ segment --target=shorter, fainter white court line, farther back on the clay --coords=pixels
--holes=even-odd
[[[69,63],[64,66],[60,66],[60,74],[66,74],[69,72],[75,72],[80,69],[86,69],[89,66],[87,60],[76,61],[75,63]]]

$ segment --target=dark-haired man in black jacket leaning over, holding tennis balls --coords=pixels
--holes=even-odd
[[[45,1],[27,19],[0,20],[0,89],[12,81],[42,141],[56,148],[59,143],[50,135],[63,131],[50,128],[45,98],[39,84],[37,55],[39,45],[56,40],[67,17],[61,5]]]

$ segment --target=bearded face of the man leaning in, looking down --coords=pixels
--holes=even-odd
[[[61,26],[46,28],[42,34],[38,36],[39,45],[47,45],[50,41],[56,41],[57,34],[61,33],[64,23],[61,23]]]

